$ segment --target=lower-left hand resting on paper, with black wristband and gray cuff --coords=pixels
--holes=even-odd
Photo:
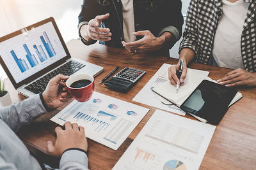
[[[65,130],[56,127],[57,139],[54,144],[47,142],[47,152],[60,158],[60,170],[88,169],[88,143],[84,127],[70,122],[66,122],[64,127]]]

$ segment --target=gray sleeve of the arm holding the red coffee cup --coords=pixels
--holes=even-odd
[[[0,118],[15,132],[22,125],[33,122],[47,111],[42,104],[39,94],[17,104],[0,108]]]

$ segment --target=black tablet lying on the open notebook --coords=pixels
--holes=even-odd
[[[236,96],[237,90],[212,81],[203,80],[180,108],[217,125],[228,110],[228,104]]]

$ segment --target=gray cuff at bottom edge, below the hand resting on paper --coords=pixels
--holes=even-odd
[[[60,159],[60,170],[88,169],[88,157],[79,150],[68,150]]]

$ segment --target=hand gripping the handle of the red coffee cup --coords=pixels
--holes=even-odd
[[[64,102],[71,99],[70,94],[67,92],[67,87],[60,85],[61,82],[67,80],[68,78],[69,76],[58,74],[49,81],[45,91],[42,93],[45,104],[49,109],[58,108]]]

